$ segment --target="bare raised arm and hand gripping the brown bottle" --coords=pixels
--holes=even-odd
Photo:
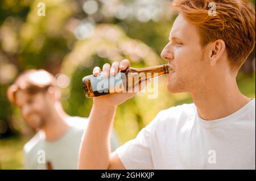
[[[120,63],[121,70],[125,70],[129,66],[128,60],[123,60]],[[114,62],[111,68],[116,74],[119,63]],[[105,64],[102,71],[107,76],[112,73],[109,64]],[[99,73],[100,68],[94,68],[93,74],[97,76]],[[134,95],[135,93],[114,93],[93,98],[88,127],[82,137],[79,169],[125,169],[117,154],[110,156],[110,134],[117,106]]]

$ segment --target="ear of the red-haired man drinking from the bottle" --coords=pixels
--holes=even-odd
[[[209,60],[211,66],[217,64],[217,61],[220,60],[221,56],[224,54],[225,48],[225,42],[221,39],[218,39],[211,43],[209,51]]]

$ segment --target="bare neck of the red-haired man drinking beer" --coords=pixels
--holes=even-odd
[[[241,94],[236,79],[222,79],[214,85],[204,87],[203,91],[192,94],[198,116],[204,120],[216,120],[231,115],[250,102]]]

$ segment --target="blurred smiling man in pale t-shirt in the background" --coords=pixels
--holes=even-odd
[[[30,127],[38,131],[24,145],[25,169],[77,169],[81,137],[88,120],[71,117],[61,106],[56,79],[46,70],[27,70],[7,91]],[[112,151],[119,143],[112,132]]]

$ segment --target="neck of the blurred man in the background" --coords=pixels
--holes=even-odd
[[[43,129],[46,141],[55,141],[61,138],[69,130],[69,125],[65,121],[67,114],[59,110],[53,110],[47,117],[47,124]]]

